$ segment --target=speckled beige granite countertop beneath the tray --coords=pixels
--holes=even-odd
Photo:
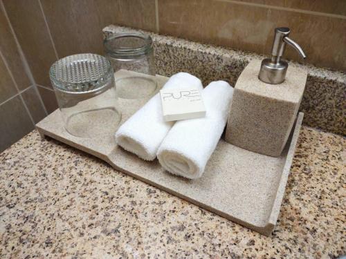
[[[0,155],[0,257],[334,258],[346,253],[345,145],[302,126],[266,237],[33,131]]]

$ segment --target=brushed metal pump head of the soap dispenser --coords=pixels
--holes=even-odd
[[[286,44],[295,48],[303,59],[307,57],[302,48],[288,37],[289,32],[289,28],[286,27],[275,28],[273,47],[271,48],[271,59],[262,60],[260,73],[258,75],[258,78],[264,81],[264,83],[281,84],[284,81],[289,64],[282,60],[281,57],[284,55]]]

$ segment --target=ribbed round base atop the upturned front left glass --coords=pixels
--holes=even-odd
[[[55,88],[69,93],[90,93],[107,86],[113,77],[110,61],[96,54],[77,54],[56,61],[49,70]]]

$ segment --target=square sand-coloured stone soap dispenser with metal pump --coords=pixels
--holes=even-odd
[[[305,58],[289,36],[275,28],[271,59],[253,60],[235,84],[226,141],[249,151],[278,157],[291,133],[307,81],[307,72],[281,57],[289,44]]]

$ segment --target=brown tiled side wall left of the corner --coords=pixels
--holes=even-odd
[[[35,123],[46,115],[46,108],[1,5],[0,152],[32,131]]]

